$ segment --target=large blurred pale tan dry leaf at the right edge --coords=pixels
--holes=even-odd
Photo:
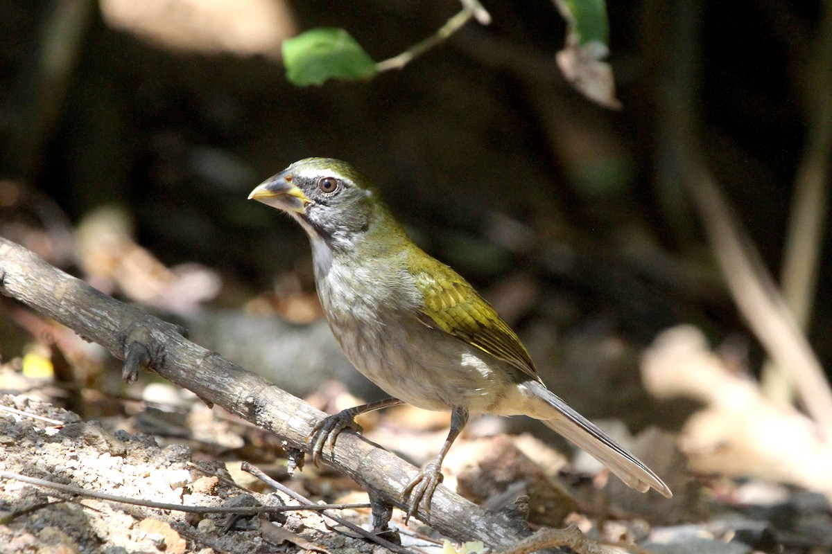
[[[755,380],[728,370],[701,331],[665,331],[645,351],[641,370],[656,397],[706,404],[680,438],[694,472],[789,483],[832,498],[832,445],[804,414],[774,404]]]

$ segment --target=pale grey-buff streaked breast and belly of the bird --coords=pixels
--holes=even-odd
[[[333,263],[316,282],[344,354],[389,395],[423,409],[472,412],[492,411],[500,400],[503,362],[419,321],[406,276],[379,279],[379,272]]]

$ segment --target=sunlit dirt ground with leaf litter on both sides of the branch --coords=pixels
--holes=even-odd
[[[240,455],[256,451],[266,473],[306,497],[334,503],[367,502],[366,494],[354,483],[325,469],[305,468],[290,478],[275,437],[230,420],[221,410],[218,414],[194,402],[184,411],[174,410],[172,418],[171,413],[159,410],[132,409],[128,411],[135,413],[129,417],[84,421],[71,411],[27,395],[0,396],[0,406],[0,552],[386,550],[314,512],[235,519],[229,514],[186,513],[85,498],[10,475],[139,499],[140,504],[296,505],[292,498],[268,492],[264,483],[240,471]],[[404,411],[386,416],[385,421],[369,421],[368,434],[383,444],[403,445],[400,453],[408,458],[419,458],[419,452],[426,457],[424,444],[440,444],[444,431],[421,429],[397,439],[396,425],[412,424],[409,417]],[[183,427],[179,429],[176,422]],[[186,432],[189,425],[191,430]],[[474,424],[473,435],[488,435],[491,425],[488,420]],[[148,426],[155,426],[155,434],[135,430]],[[675,439],[648,432],[641,434],[634,448],[636,452],[667,450],[668,441],[672,444]],[[656,502],[631,493],[620,483],[609,483],[602,493],[596,487],[604,481],[588,479],[588,473],[576,469],[582,465],[580,457],[567,463],[531,435],[468,436],[448,458],[446,484],[486,506],[497,506],[500,497],[505,503],[508,495],[508,502],[513,502],[527,493],[530,520],[537,522],[532,527],[577,524],[588,536],[620,549],[611,552],[830,552],[832,512],[821,495],[757,480],[732,483],[718,478],[683,478],[686,484],[680,488],[681,475],[666,472],[684,463],[671,459],[666,464],[656,469],[668,478],[676,496],[666,503]],[[369,509],[339,513],[372,527]],[[411,521],[404,527],[396,511],[393,524],[411,552],[440,552],[441,537],[421,523]]]

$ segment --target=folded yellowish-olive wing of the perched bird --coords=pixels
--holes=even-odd
[[[463,277],[437,262],[429,271],[415,272],[424,299],[419,321],[476,346],[479,350],[540,380],[532,357],[497,311]]]

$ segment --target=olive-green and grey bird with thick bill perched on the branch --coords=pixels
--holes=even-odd
[[[317,465],[354,417],[398,404],[450,411],[438,456],[402,491],[429,512],[442,463],[472,414],[527,415],[592,454],[631,488],[671,498],[656,473],[543,384],[526,347],[451,267],[414,244],[372,181],[351,164],[307,158],[249,199],[288,213],[309,236],[315,287],[344,355],[391,398],[344,409],[307,438]]]

